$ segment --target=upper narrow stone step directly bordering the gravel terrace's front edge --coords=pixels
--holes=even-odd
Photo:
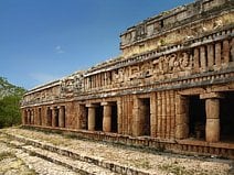
[[[41,142],[39,140],[29,139],[29,138],[25,138],[23,135],[15,135],[15,134],[13,135],[11,133],[4,133],[4,134],[7,134],[12,140],[17,140],[21,143],[32,145],[33,147],[39,147],[43,151],[49,151],[51,153],[53,152],[53,153],[60,154],[61,156],[64,156],[64,157],[70,157],[70,158],[77,160],[77,161],[81,161],[81,162],[85,162],[85,163],[88,163],[88,164],[94,164],[96,166],[99,166],[103,169],[108,169],[110,173],[114,172],[114,173],[117,173],[117,174],[126,174],[126,175],[128,175],[128,174],[130,174],[130,175],[131,174],[150,175],[150,173],[143,172],[142,169],[138,169],[136,167],[125,166],[125,165],[117,164],[117,163],[114,163],[114,162],[109,162],[109,161],[105,161],[105,160],[98,160],[96,157],[91,157],[91,156],[87,156],[87,155],[82,155],[82,154],[72,152],[71,150],[67,150],[67,149],[64,149],[64,147],[61,147],[61,146],[55,146],[55,145],[50,144],[50,143]]]

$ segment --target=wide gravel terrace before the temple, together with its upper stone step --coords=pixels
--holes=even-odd
[[[81,140],[73,138],[72,134],[61,135],[24,129],[4,129],[0,130],[1,132],[4,132],[6,136],[8,134],[11,140],[18,140],[28,145],[127,175],[168,175],[174,168],[182,171],[182,174],[223,175],[228,172],[232,164],[232,160],[216,157],[206,158],[170,153],[141,152],[136,149],[114,146],[105,142]]]

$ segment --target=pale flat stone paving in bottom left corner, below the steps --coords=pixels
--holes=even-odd
[[[72,168],[30,155],[22,149],[24,143],[1,134],[0,138],[0,153],[11,153],[9,157],[1,160],[0,174],[81,175]]]

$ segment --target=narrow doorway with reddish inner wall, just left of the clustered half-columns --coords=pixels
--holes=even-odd
[[[140,135],[150,135],[150,98],[140,99]]]

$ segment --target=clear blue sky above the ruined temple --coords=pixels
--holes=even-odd
[[[116,57],[127,28],[192,0],[0,0],[0,76],[26,89]]]

